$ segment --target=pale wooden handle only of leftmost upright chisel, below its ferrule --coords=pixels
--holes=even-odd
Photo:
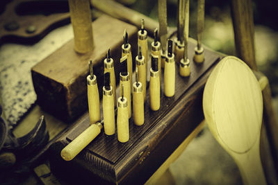
[[[87,85],[87,87],[90,124],[92,125],[100,121],[99,89],[97,89],[97,83],[95,85]]]

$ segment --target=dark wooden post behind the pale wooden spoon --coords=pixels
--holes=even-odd
[[[252,70],[257,71],[254,52],[254,21],[252,12],[252,0],[232,0],[231,15],[234,25],[234,37],[238,57],[242,59]],[[272,97],[269,84],[265,86],[263,93],[263,119],[268,134],[268,141],[272,149],[272,157],[278,161],[278,125],[275,112],[272,107]],[[264,127],[262,127],[264,129]],[[263,132],[265,133],[265,132]],[[278,173],[278,166],[275,166]]]

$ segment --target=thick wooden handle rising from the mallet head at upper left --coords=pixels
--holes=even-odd
[[[69,0],[70,19],[74,30],[74,50],[87,53],[94,48],[90,1]]]

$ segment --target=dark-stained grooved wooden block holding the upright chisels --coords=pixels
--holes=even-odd
[[[175,95],[167,98],[163,94],[162,83],[161,108],[156,112],[149,107],[147,89],[145,123],[136,126],[131,117],[128,142],[120,143],[117,141],[117,133],[106,136],[102,130],[72,161],[64,161],[60,151],[89,126],[89,116],[85,114],[49,148],[52,172],[57,177],[79,184],[145,183],[204,119],[204,84],[221,56],[205,50],[204,63],[195,64],[194,47],[195,44],[189,43],[190,77],[179,76],[179,66],[176,64]]]

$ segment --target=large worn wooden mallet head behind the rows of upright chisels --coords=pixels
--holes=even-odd
[[[116,81],[119,80],[121,46],[124,29],[129,34],[132,52],[137,53],[137,28],[107,15],[92,23],[95,49],[92,53],[78,54],[74,51],[74,39],[36,64],[32,70],[38,104],[42,109],[64,121],[74,121],[88,109],[86,77],[88,61],[92,59],[97,75],[99,92],[103,84],[104,65],[108,48],[115,62]],[[135,60],[133,60],[135,61]],[[134,65],[134,64],[133,64]],[[102,96],[102,94],[99,94]]]

